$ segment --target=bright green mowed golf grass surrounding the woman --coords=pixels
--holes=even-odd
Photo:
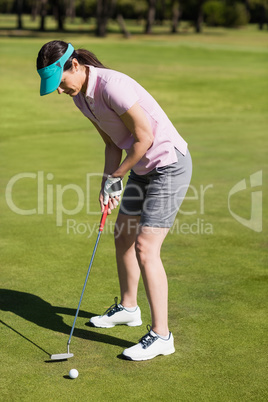
[[[142,327],[85,326],[119,295],[113,214],[77,320],[74,358],[49,363],[50,354],[66,352],[95,244],[104,147],[70,98],[39,96],[35,59],[52,34],[1,38],[1,399],[267,400],[267,33],[54,38],[137,79],[189,143],[192,187],[162,250],[176,353],[140,363],[118,357],[150,323],[142,283]],[[262,185],[251,189],[259,171]],[[261,191],[259,232],[228,208],[243,179],[247,190],[231,197],[231,211],[249,220],[251,196]],[[67,379],[71,368],[77,380]]]

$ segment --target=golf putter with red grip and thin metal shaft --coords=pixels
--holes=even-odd
[[[96,253],[96,250],[97,250],[97,247],[98,247],[98,243],[99,243],[99,240],[100,240],[100,235],[101,235],[101,233],[103,231],[104,224],[105,224],[105,221],[106,221],[107,213],[108,213],[108,204],[105,205],[105,209],[104,209],[104,212],[103,212],[102,217],[101,217],[98,237],[97,237],[95,247],[94,247],[94,250],[93,250],[93,254],[92,254],[92,257],[91,257],[91,260],[90,260],[90,264],[89,264],[89,267],[88,267],[87,276],[86,276],[86,279],[85,279],[82,294],[81,294],[79,304],[78,304],[78,307],[77,307],[77,310],[76,310],[76,314],[75,314],[75,317],[74,317],[74,322],[73,322],[73,326],[72,326],[72,329],[71,329],[71,333],[70,333],[70,336],[69,336],[69,339],[68,339],[68,342],[67,342],[67,353],[59,353],[59,354],[51,355],[50,356],[51,360],[65,360],[65,359],[69,359],[70,357],[73,357],[73,355],[74,355],[73,353],[70,353],[70,343],[71,343],[72,335],[73,335],[73,332],[74,332],[74,327],[75,327],[76,319],[78,317],[78,313],[79,313],[80,305],[81,305],[81,302],[82,302],[82,298],[83,298],[83,295],[84,295],[84,291],[85,291],[85,288],[86,288],[88,276],[89,276],[91,266],[92,266],[92,263],[93,263],[93,260],[94,260],[94,256],[95,256],[95,253]]]

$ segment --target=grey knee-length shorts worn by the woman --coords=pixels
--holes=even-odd
[[[170,228],[192,176],[190,152],[176,150],[178,162],[157,167],[146,175],[131,170],[119,213],[140,216],[142,226]]]

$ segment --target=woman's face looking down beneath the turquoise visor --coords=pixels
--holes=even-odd
[[[57,91],[59,94],[76,96],[80,91],[85,92],[86,80],[85,66],[81,66],[76,59],[73,59],[73,66],[70,70],[63,72]]]

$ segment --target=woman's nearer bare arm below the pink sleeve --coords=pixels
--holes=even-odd
[[[124,177],[126,173],[143,157],[154,141],[150,123],[138,103],[135,103],[120,119],[133,135],[135,141],[128,155],[116,169],[113,177]]]

